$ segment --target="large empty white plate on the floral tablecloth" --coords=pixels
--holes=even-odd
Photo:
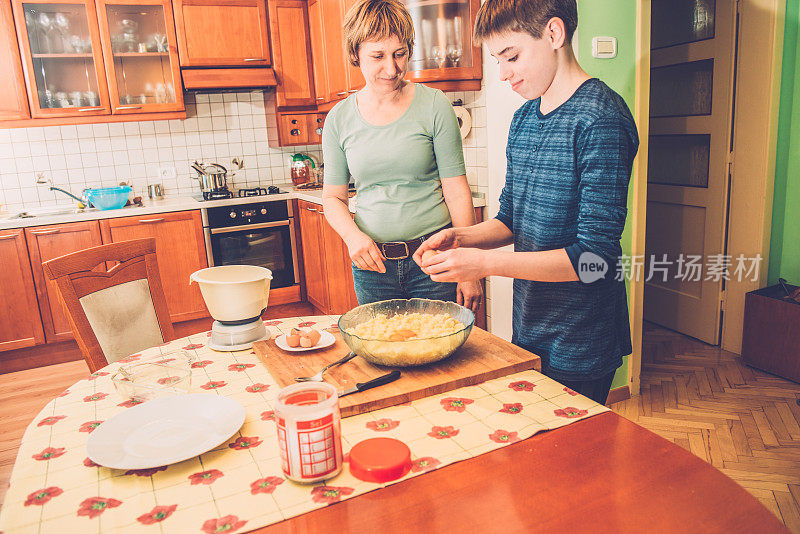
[[[89,435],[86,454],[113,469],[174,464],[228,440],[244,417],[241,404],[214,393],[162,397],[105,421]]]

